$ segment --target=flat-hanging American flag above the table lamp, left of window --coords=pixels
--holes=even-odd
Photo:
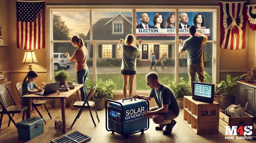
[[[17,0],[17,48],[45,48],[44,5],[45,0]]]

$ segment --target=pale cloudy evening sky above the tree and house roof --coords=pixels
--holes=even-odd
[[[90,29],[90,12],[89,11],[54,11],[54,14],[60,15],[70,30],[70,35],[83,33],[87,35]],[[114,17],[119,12],[92,12],[92,24],[101,18]],[[125,16],[132,17],[132,12],[122,12]]]

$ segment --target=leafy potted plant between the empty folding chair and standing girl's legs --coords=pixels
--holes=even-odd
[[[97,88],[94,93],[94,101],[97,110],[103,110],[104,108],[104,99],[113,99],[114,90],[116,89],[116,84],[113,81],[108,80],[103,82],[99,80],[96,82]]]

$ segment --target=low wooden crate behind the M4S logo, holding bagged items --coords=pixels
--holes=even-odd
[[[246,117],[229,117],[227,115],[225,115],[225,111],[220,110],[219,111],[219,124],[220,126],[222,126],[223,128],[225,128],[225,126],[252,126],[253,128],[253,116],[246,114]]]

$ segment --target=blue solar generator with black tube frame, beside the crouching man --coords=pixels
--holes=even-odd
[[[110,101],[109,106],[107,102]],[[149,110],[149,101],[145,98],[106,101],[106,130],[128,137],[130,134],[142,132],[149,128],[149,118],[143,117]]]

